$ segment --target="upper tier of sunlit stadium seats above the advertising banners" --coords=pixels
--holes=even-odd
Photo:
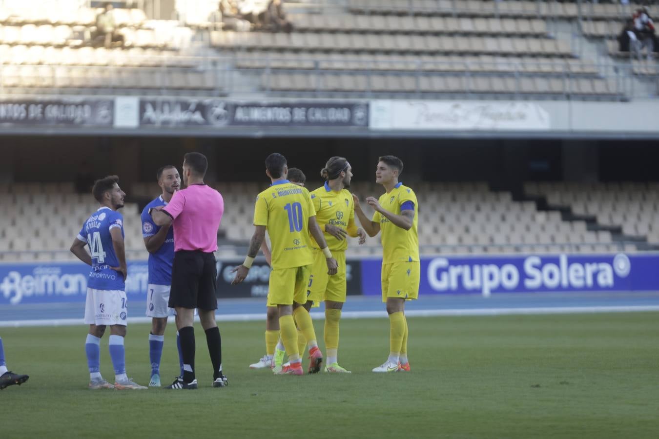
[[[619,78],[624,72],[585,57],[578,35],[557,30],[561,20],[581,18],[586,29],[593,19],[632,7],[513,0],[322,6],[291,7],[304,11],[289,14],[291,33],[216,30],[212,22],[152,20],[140,9],[117,8],[124,43],[107,49],[90,45],[100,9],[0,8],[0,87],[3,93],[628,99]],[[636,70],[653,74],[656,66]]]

